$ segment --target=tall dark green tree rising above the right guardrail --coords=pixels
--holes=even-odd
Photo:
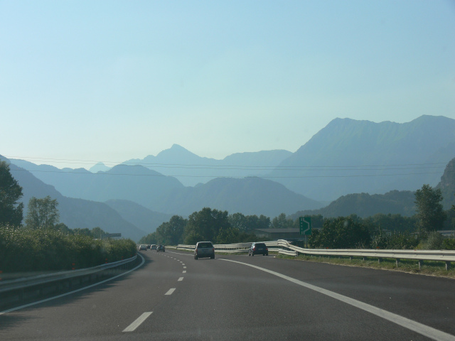
[[[444,212],[441,203],[442,199],[441,189],[435,190],[430,185],[423,185],[422,189],[415,192],[417,229],[420,232],[442,229],[444,220],[446,220],[446,212]]]

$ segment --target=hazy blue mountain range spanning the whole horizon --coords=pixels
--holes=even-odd
[[[437,185],[454,156],[455,120],[423,116],[405,124],[334,119],[295,153],[235,153],[215,160],[173,145],[157,156],[112,168],[99,163],[90,171],[11,162],[61,196],[103,202],[149,233],[170,215],[187,216],[203,207],[274,217],[310,212],[339,198],[321,213],[348,215],[349,207],[362,204],[359,215],[384,210],[412,215],[412,191],[424,183]],[[147,222],[153,226],[144,227]]]

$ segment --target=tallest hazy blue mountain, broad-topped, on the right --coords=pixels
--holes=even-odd
[[[422,116],[403,124],[333,119],[269,176],[327,201],[437,185],[454,156],[454,119]]]

